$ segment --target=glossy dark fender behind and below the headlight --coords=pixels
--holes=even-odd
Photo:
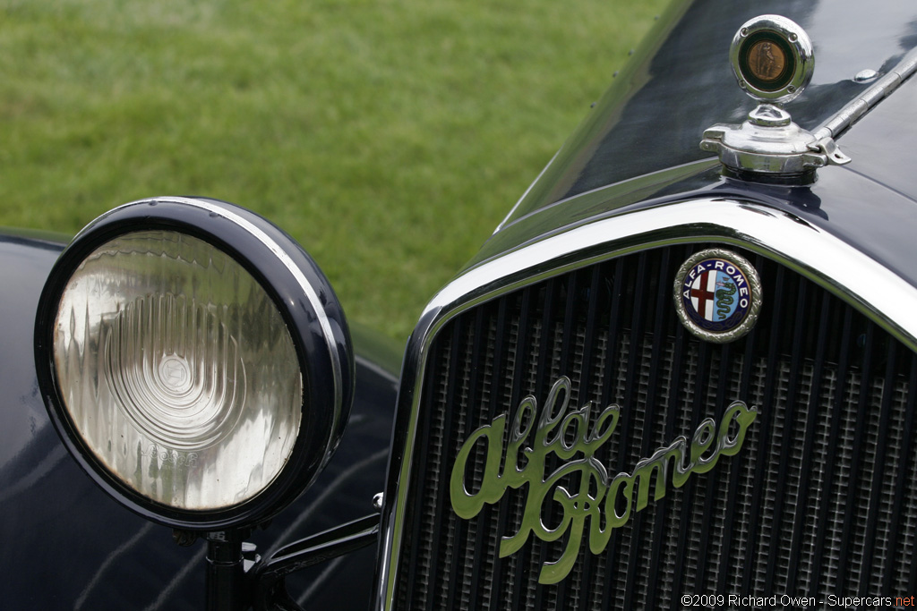
[[[108,497],[67,453],[39,395],[32,356],[39,294],[65,237],[0,234],[0,608],[202,609],[204,541],[180,547],[171,529]],[[315,484],[256,530],[267,555],[293,540],[374,512],[384,486],[400,347],[351,325],[357,387],[348,429]],[[366,608],[375,546],[288,580],[305,607]]]

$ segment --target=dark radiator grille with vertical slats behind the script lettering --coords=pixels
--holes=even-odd
[[[911,351],[825,290],[747,253],[765,290],[761,318],[735,343],[703,343],[682,328],[671,298],[677,268],[700,248],[596,264],[448,323],[422,387],[399,608],[652,609],[679,606],[682,594],[823,601],[913,592]],[[759,414],[740,453],[669,485],[613,530],[602,554],[589,551],[587,526],[569,576],[543,585],[542,564],[558,559],[566,538],[530,538],[498,555],[501,537],[519,528],[525,486],[466,520],[448,482],[472,431],[499,414],[512,420],[526,395],[541,406],[559,376],[572,381],[571,406],[621,407],[596,453],[612,475],[690,438],[703,419],[718,422],[736,399]],[[471,454],[472,480],[480,482],[484,454]],[[548,473],[563,464],[550,457]],[[557,514],[543,520],[556,524]]]

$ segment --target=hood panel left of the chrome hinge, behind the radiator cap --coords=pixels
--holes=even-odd
[[[789,107],[810,130],[868,86],[854,81],[859,71],[888,71],[917,46],[910,2],[675,3],[504,225],[586,191],[709,157],[698,146],[703,130],[741,123],[755,106],[736,86],[729,46],[738,27],[765,13],[789,17],[812,38],[812,83]]]

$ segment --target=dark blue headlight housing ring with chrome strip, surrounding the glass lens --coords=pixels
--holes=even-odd
[[[214,510],[164,505],[110,473],[70,420],[55,366],[54,327],[61,297],[86,257],[125,235],[162,230],[190,235],[221,250],[257,280],[293,340],[302,374],[302,422],[293,451],[274,481],[237,506]],[[293,238],[256,213],[228,202],[160,197],[124,204],[87,225],[50,271],[35,323],[39,392],[61,441],[109,496],[144,518],[178,529],[256,526],[289,505],[321,471],[343,434],[354,392],[348,324],[315,261]]]

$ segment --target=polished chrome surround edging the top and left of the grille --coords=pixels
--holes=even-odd
[[[602,260],[664,245],[718,242],[768,256],[863,311],[917,351],[917,288],[839,237],[760,203],[700,199],[661,205],[570,228],[472,267],[430,301],[408,344],[398,398],[404,446],[392,445],[380,540],[377,609],[394,608],[407,486],[421,385],[439,331],[463,311],[504,293]],[[406,414],[403,412],[406,410]],[[395,431],[395,442],[399,439]]]

